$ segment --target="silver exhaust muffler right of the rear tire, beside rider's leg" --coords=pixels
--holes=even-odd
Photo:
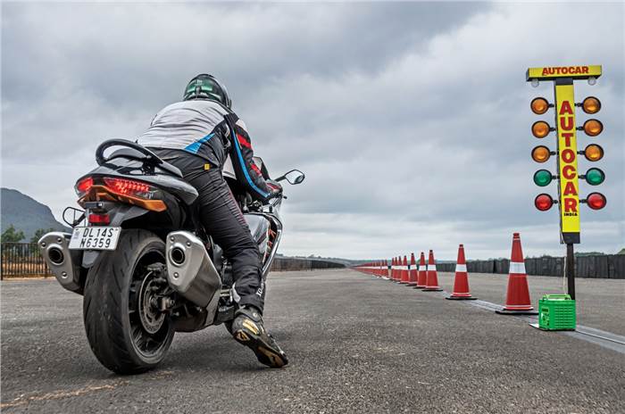
[[[188,301],[206,308],[221,290],[221,277],[204,243],[187,231],[167,235],[167,280]]]

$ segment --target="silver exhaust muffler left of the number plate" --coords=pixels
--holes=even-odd
[[[70,238],[70,233],[53,231],[41,237],[37,244],[48,268],[61,286],[71,292],[79,292],[80,271],[74,263],[79,262],[81,252],[70,251]]]

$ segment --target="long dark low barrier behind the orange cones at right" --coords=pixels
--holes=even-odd
[[[508,273],[510,261],[507,259],[490,261],[467,261],[467,270],[475,273]],[[437,263],[439,271],[453,272],[454,263]],[[563,257],[532,257],[525,259],[528,275],[562,276]],[[602,254],[578,256],[575,258],[575,277],[596,277],[625,279],[625,254]]]

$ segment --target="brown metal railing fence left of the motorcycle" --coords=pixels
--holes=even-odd
[[[0,253],[2,253],[0,279],[52,276],[39,253],[37,243],[3,243],[0,245]]]

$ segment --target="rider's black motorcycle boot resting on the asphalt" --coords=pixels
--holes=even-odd
[[[239,344],[244,344],[254,351],[262,364],[271,368],[282,368],[287,365],[287,354],[262,326],[261,313],[254,307],[242,306],[237,310],[232,322],[232,336]]]

